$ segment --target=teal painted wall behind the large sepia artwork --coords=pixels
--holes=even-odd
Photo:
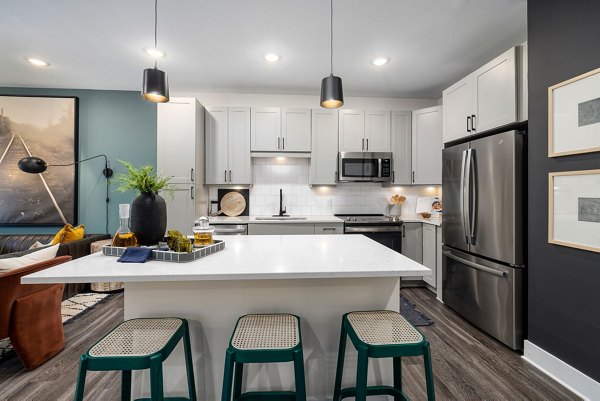
[[[0,88],[4,95],[79,97],[79,160],[105,154],[115,174],[123,172],[120,160],[136,166],[156,166],[156,105],[139,92],[78,89]],[[102,158],[79,165],[79,223],[86,233],[104,233],[106,181]],[[133,192],[121,193],[109,186],[109,233],[119,226],[119,203],[131,203]],[[57,227],[7,227],[0,233],[53,233]]]

